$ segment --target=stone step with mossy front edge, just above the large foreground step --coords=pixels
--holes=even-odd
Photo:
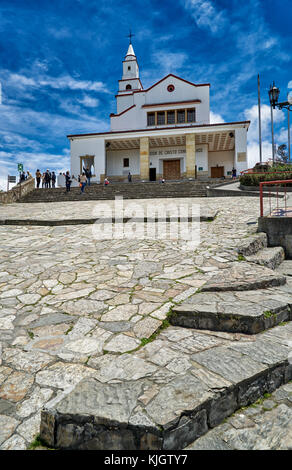
[[[278,289],[198,293],[172,309],[175,326],[257,334],[292,320],[292,295]]]

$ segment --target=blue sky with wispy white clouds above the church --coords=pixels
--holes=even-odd
[[[291,17],[291,0],[1,0],[0,184],[17,162],[65,170],[67,134],[109,130],[129,28],[144,88],[168,73],[210,82],[212,122],[252,120],[250,163],[260,73],[269,158],[269,85],[292,91]],[[287,143],[286,113],[274,119]]]

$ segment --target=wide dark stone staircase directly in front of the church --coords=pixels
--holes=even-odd
[[[102,184],[86,186],[84,194],[80,194],[79,187],[71,187],[66,193],[65,188],[35,189],[19,202],[59,202],[59,201],[89,201],[109,200],[116,196],[124,199],[152,199],[173,197],[206,197],[207,186],[215,184],[216,180],[204,181],[168,181],[165,184],[158,182],[111,183],[107,187]]]

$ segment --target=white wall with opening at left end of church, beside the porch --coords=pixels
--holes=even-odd
[[[74,139],[71,145],[71,175],[77,177],[80,174],[80,157],[84,155],[94,156],[95,177],[92,181],[100,182],[100,174],[105,173],[105,142],[104,138],[89,137]]]

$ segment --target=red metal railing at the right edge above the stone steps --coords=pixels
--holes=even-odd
[[[260,216],[264,216],[264,185],[273,185],[276,188],[269,188],[268,201],[269,201],[269,215],[278,217],[285,217],[288,215],[287,208],[287,184],[292,184],[292,180],[276,180],[276,181],[262,181],[260,183]],[[292,187],[291,187],[292,190]],[[280,194],[279,194],[280,193]],[[272,199],[275,204],[272,204]],[[282,202],[282,203],[281,203]],[[274,205],[274,207],[272,207]]]

